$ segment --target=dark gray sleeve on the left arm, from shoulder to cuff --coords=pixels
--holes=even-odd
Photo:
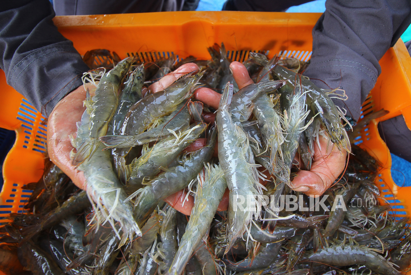
[[[0,68],[7,84],[48,116],[80,85],[89,70],[73,43],[54,26],[48,0],[11,0],[0,5]]]

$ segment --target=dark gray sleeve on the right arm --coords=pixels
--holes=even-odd
[[[380,58],[410,25],[410,0],[327,0],[312,30],[311,63],[304,75],[323,89],[341,87],[335,99],[356,121],[381,73]]]

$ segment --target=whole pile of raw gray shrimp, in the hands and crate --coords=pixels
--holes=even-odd
[[[96,92],[87,92],[71,157],[87,188],[47,161],[44,177],[25,186],[33,190],[28,214],[11,214],[13,222],[0,228],[4,273],[399,275],[410,269],[409,220],[380,205],[379,164],[350,143],[350,125],[330,99],[344,94],[300,75],[306,62],[254,52],[244,65],[256,84],[239,89],[224,45],[208,51],[210,60],[190,56],[175,64],[171,56],[144,64],[129,57],[108,72],[84,75]],[[187,62],[201,69],[147,92],[146,84]],[[218,109],[192,99],[200,86],[221,93]],[[205,119],[210,114],[213,123]],[[311,168],[320,137],[352,155],[314,199],[294,191],[292,180]],[[189,149],[199,138],[204,147]],[[164,201],[176,193],[174,202],[194,204],[190,216]],[[221,211],[223,197],[228,209]]]

